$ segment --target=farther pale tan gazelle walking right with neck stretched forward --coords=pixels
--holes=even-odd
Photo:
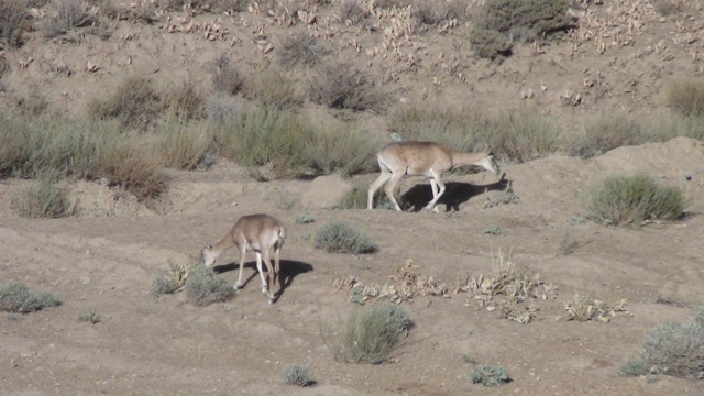
[[[498,164],[491,151],[481,153],[460,153],[433,142],[392,142],[382,148],[376,155],[382,174],[370,185],[367,191],[367,208],[374,207],[374,194],[384,183],[388,182],[384,191],[394,204],[396,210],[400,207],[394,198],[394,189],[405,176],[427,176],[430,178],[432,200],[426,209],[438,211],[438,199],[444,193],[444,184],[441,176],[446,172],[454,170],[463,165],[477,165],[498,175]]]

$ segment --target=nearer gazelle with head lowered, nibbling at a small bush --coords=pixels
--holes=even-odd
[[[262,293],[268,296],[268,304],[274,302],[274,285],[278,277],[280,251],[286,240],[286,228],[277,218],[270,215],[250,215],[241,217],[232,227],[232,230],[220,241],[211,245],[208,243],[200,251],[200,261],[206,266],[213,265],[218,257],[230,246],[240,250],[240,275],[233,288],[242,287],[242,268],[244,267],[244,256],[252,250],[256,254],[256,270],[262,278]],[[270,251],[274,249],[274,267],[270,260]],[[266,278],[262,271],[262,257],[266,264]]]

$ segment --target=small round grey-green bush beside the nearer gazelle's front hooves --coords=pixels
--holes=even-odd
[[[205,307],[229,299],[234,295],[234,289],[212,268],[196,265],[188,272],[186,294],[193,304]]]

